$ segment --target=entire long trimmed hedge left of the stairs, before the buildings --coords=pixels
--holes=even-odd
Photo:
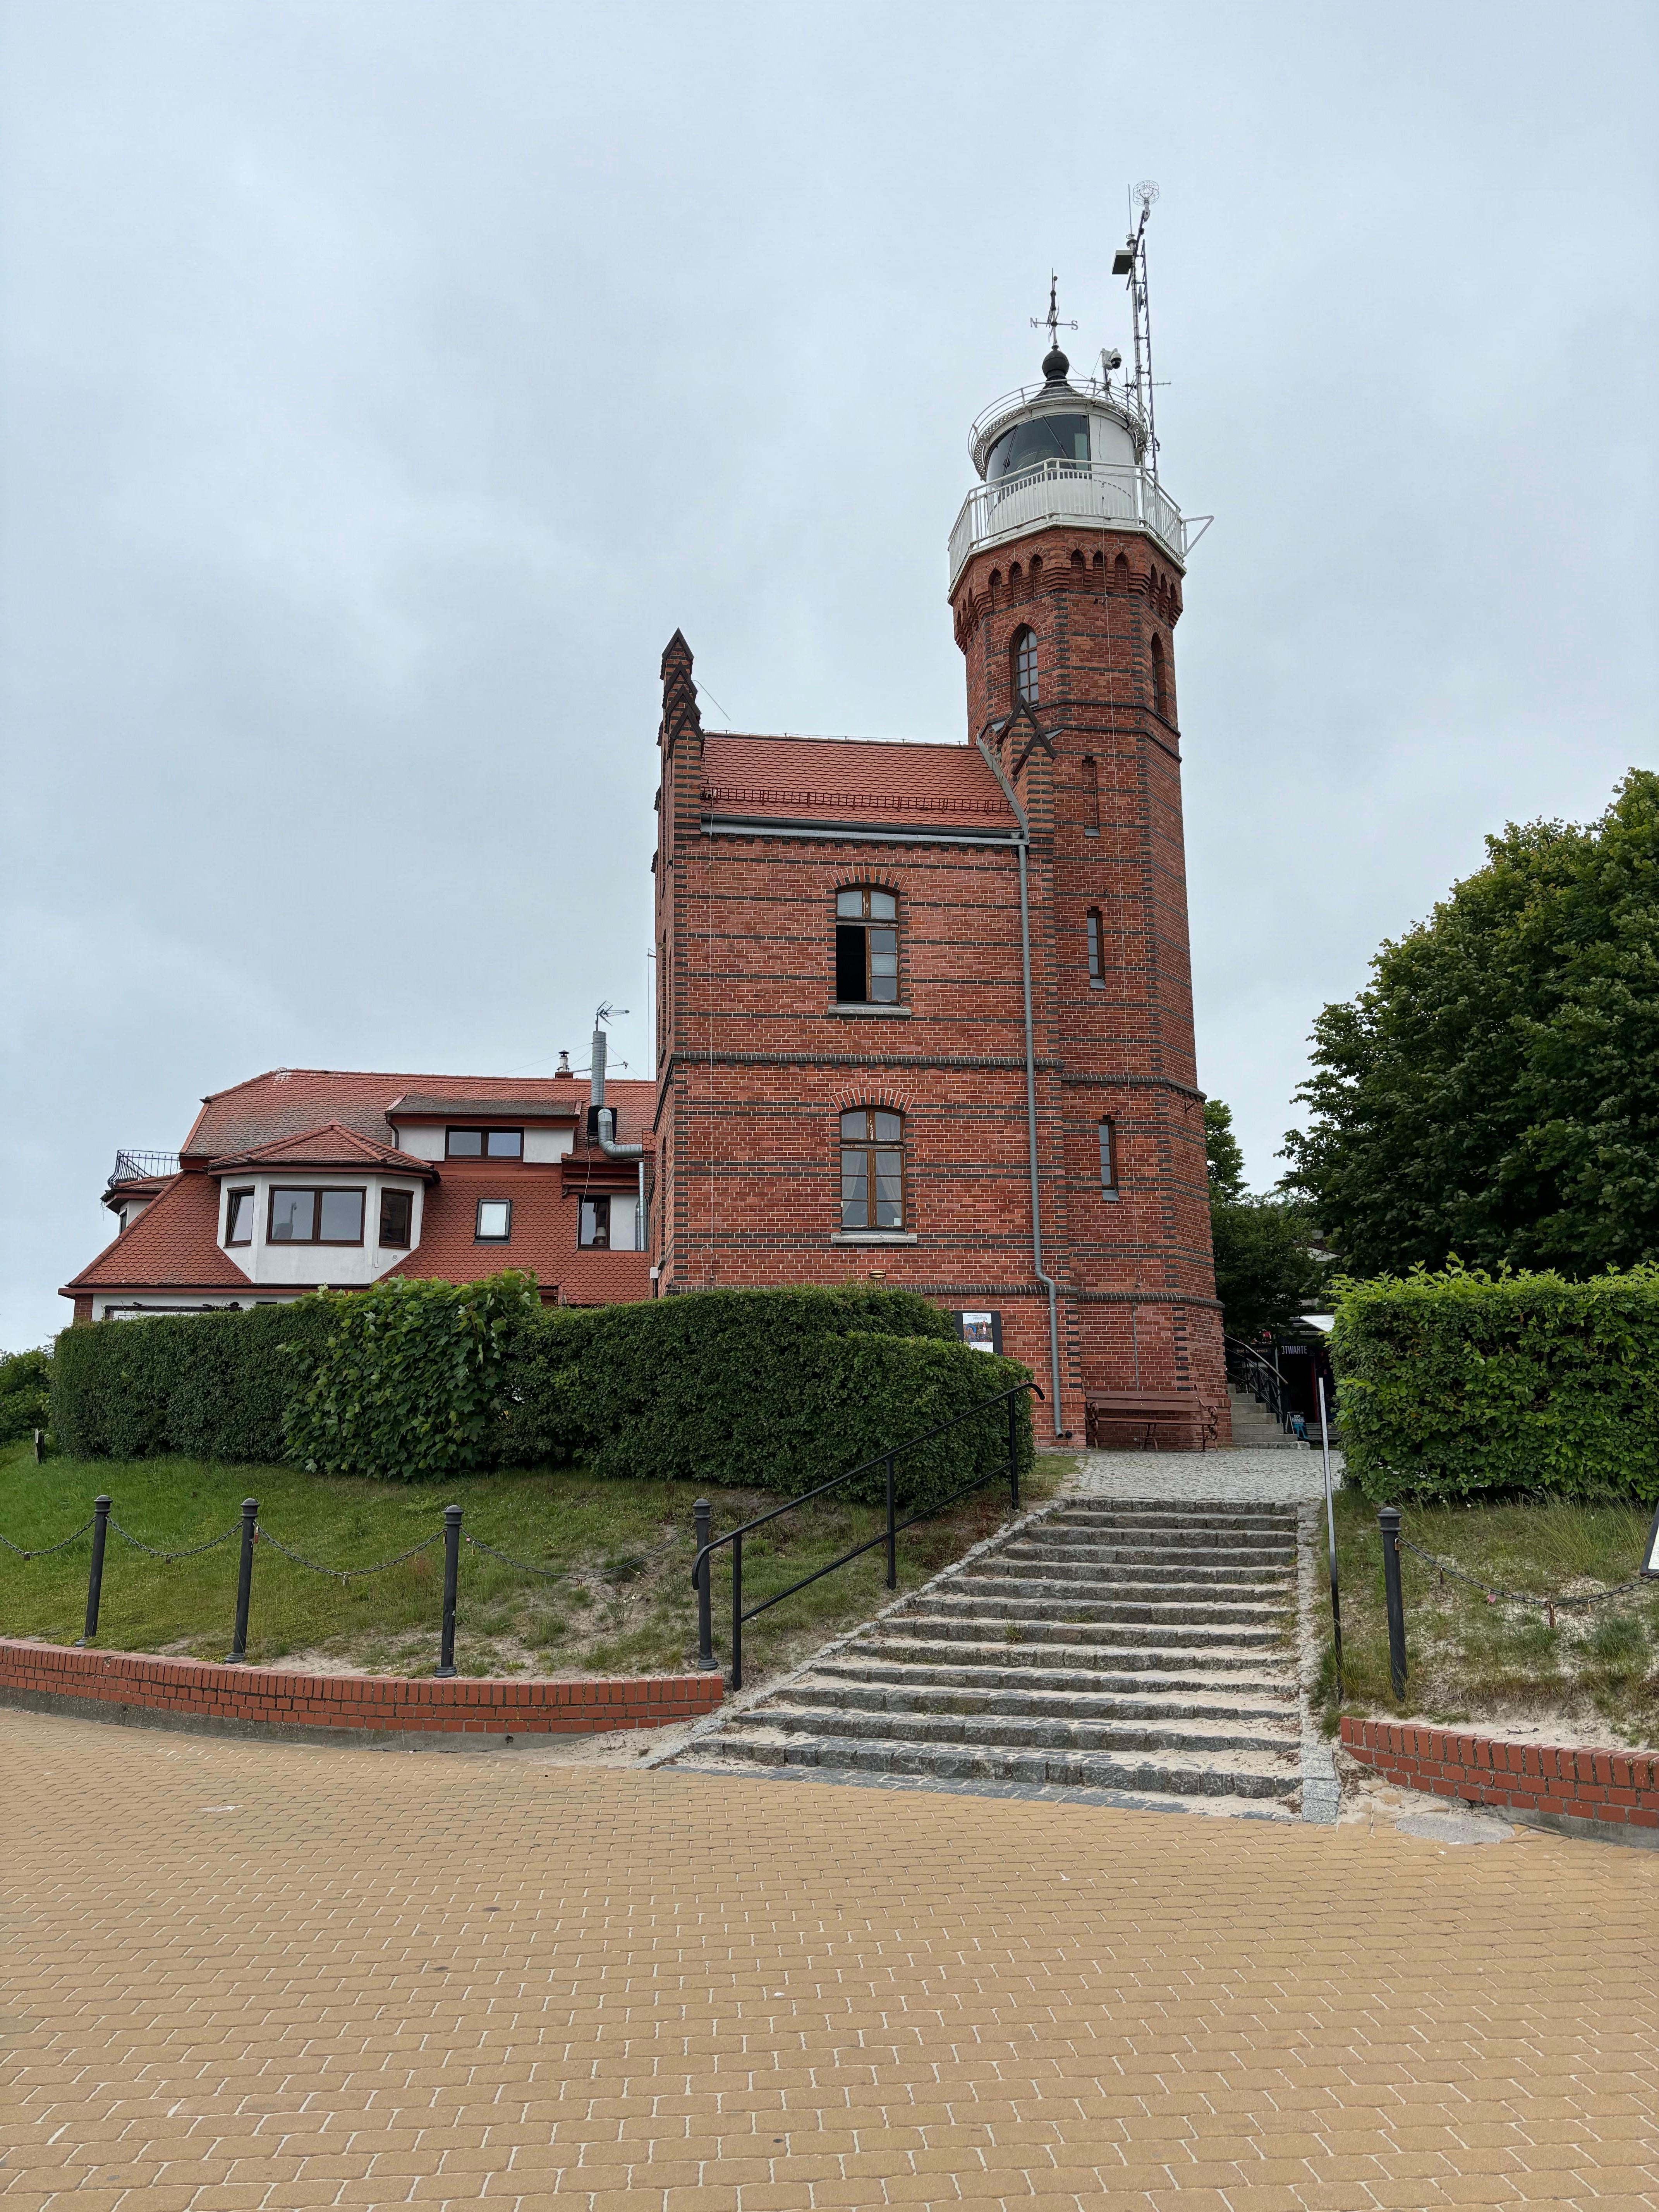
[[[418,1480],[580,1453],[602,1475],[794,1493],[1026,1380],[902,1290],[695,1292],[540,1310],[524,1276],[380,1283],[58,1338],[75,1458],[292,1460]],[[1020,1400],[1022,1462],[1031,1400]],[[929,1502],[1006,1458],[1006,1411],[909,1451]],[[880,1471],[849,1495],[878,1495]]]

